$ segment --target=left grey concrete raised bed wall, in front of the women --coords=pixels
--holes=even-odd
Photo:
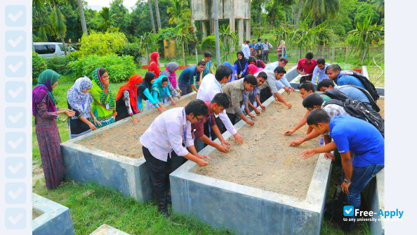
[[[188,94],[183,96],[181,100],[191,101],[195,99],[195,96],[196,93]],[[166,107],[169,105],[166,104]],[[138,113],[136,117],[140,118],[140,116],[147,113],[154,113],[155,118],[159,115],[158,110],[152,109]],[[88,148],[78,144],[81,140],[88,139],[95,134],[131,121],[130,118],[125,118],[107,127],[102,127],[62,143],[61,149],[65,170],[67,170],[67,179],[76,182],[95,182],[100,186],[117,189],[124,196],[135,198],[136,201],[145,201],[147,198],[150,198],[152,189],[147,169],[145,168],[145,158],[143,158],[141,150],[138,151],[138,154],[140,154],[139,158],[128,158],[121,155],[123,153],[108,153],[100,149]]]

